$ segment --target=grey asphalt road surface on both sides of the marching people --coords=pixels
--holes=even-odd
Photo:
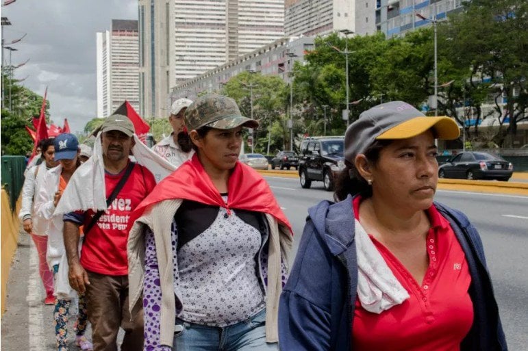
[[[312,183],[312,189],[302,189],[298,179],[266,180],[292,223],[297,252],[308,207],[331,200],[332,194],[320,182]],[[523,257],[528,247],[528,197],[439,191],[436,199],[464,211],[479,229],[508,346],[514,351],[527,350],[528,274]],[[42,305],[42,290],[36,250],[29,237],[21,234],[8,283],[8,311],[1,320],[2,350],[53,350],[53,309]]]

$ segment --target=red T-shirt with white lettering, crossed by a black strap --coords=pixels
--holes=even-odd
[[[123,177],[105,172],[106,198]],[[128,274],[127,239],[130,214],[155,187],[153,174],[136,164],[110,207],[99,221],[86,233],[81,252],[81,265],[90,272],[121,276]],[[85,228],[95,215],[86,211]]]

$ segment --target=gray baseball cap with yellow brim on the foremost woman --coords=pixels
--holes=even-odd
[[[353,163],[375,140],[413,138],[431,128],[438,139],[453,140],[460,135],[453,118],[427,117],[403,101],[382,103],[362,112],[344,133],[344,158]]]

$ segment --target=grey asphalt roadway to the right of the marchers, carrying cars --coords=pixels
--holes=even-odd
[[[303,189],[299,179],[266,180],[292,223],[297,252],[307,209],[320,200],[331,200],[332,193],[321,182]],[[478,229],[509,350],[528,350],[528,197],[439,190],[436,200],[466,213]]]

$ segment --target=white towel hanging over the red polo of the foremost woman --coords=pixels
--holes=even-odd
[[[355,220],[355,247],[359,268],[357,296],[364,309],[379,314],[410,297],[358,220]]]

